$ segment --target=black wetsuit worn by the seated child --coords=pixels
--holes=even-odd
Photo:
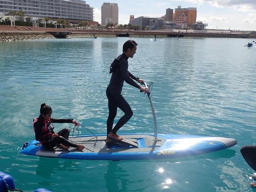
[[[51,123],[72,123],[73,119],[50,119]],[[44,129],[44,118],[41,116],[38,117],[37,122],[34,124],[35,128],[35,139],[37,141],[42,141],[42,145],[44,145],[47,148],[53,148],[57,144],[63,144],[66,146],[72,146],[76,147],[76,144],[69,141],[69,130],[68,129],[62,129],[57,134],[58,136],[55,138],[51,138],[51,136],[45,136],[42,137],[42,129]],[[54,134],[54,131],[51,131],[52,134]]]

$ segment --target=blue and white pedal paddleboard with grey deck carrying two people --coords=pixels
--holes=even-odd
[[[237,143],[235,139],[224,137],[202,137],[188,135],[159,134],[155,141],[152,134],[125,134],[124,139],[138,143],[133,147],[125,143],[106,144],[105,135],[71,137],[70,140],[86,145],[83,151],[70,147],[63,150],[56,147],[47,150],[38,141],[26,143],[20,153],[26,155],[57,157],[66,159],[92,160],[139,160],[166,159],[193,156],[215,152],[231,147]]]

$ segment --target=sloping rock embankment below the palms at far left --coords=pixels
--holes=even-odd
[[[0,41],[19,41],[55,38],[51,33],[0,32]]]

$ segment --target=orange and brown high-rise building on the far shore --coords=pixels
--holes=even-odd
[[[184,20],[184,23],[187,23],[189,26],[195,24],[197,20],[197,8],[181,8],[181,6],[175,8],[174,21],[180,22],[181,20]]]

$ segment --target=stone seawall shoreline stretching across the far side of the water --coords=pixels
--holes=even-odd
[[[102,30],[74,30],[68,34],[66,38],[80,38],[80,37],[117,37],[123,35],[126,37],[213,37],[213,38],[256,38],[256,32],[250,32],[245,34],[237,33],[174,33],[174,32],[159,32],[159,31],[102,31]],[[3,31],[0,28],[0,42],[6,41],[22,41],[22,40],[34,40],[34,39],[52,39],[57,38],[52,32],[45,31]]]

